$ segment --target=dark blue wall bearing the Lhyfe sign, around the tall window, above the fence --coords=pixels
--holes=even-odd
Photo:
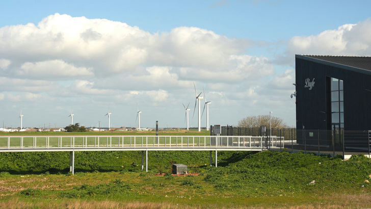
[[[337,58],[338,59],[338,58]],[[371,62],[371,58],[368,58]],[[343,81],[343,121],[345,130],[371,129],[371,73],[368,70],[296,56],[297,128],[331,130],[331,78]],[[309,131],[308,131],[309,132]],[[309,138],[309,134],[301,138]],[[331,136],[329,136],[331,137]],[[330,139],[321,144],[330,143]]]

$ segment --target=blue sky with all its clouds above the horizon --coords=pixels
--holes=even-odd
[[[371,1],[2,1],[5,127],[296,125],[295,55],[371,56]],[[195,86],[195,87],[194,87]],[[201,113],[205,100],[201,100]],[[183,104],[183,105],[182,105]],[[196,107],[197,109],[197,107]],[[1,126],[1,125],[0,125]],[[201,126],[206,126],[206,109]]]

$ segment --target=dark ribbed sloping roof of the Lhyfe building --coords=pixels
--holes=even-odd
[[[324,56],[324,55],[296,55],[298,58],[312,58],[315,60],[325,61],[338,65],[348,66],[371,71],[371,57],[359,56]],[[310,59],[310,60],[312,60]],[[313,61],[313,60],[312,60]]]

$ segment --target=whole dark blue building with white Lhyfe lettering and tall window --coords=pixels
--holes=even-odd
[[[367,148],[371,57],[296,55],[298,143]]]

